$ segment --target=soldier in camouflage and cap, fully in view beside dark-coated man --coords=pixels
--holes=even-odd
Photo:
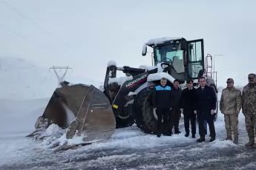
[[[220,112],[224,114],[226,127],[226,140],[232,140],[234,133],[234,143],[238,144],[238,113],[240,112],[242,100],[239,89],[234,88],[233,78],[226,81],[227,87],[223,89],[220,98]]]

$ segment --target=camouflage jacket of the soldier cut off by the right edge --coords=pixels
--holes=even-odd
[[[256,84],[247,84],[242,93],[243,114],[256,114]]]

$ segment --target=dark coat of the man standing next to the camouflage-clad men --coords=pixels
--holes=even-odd
[[[203,119],[213,118],[211,109],[216,109],[216,94],[211,86],[196,89],[196,109],[197,115]]]

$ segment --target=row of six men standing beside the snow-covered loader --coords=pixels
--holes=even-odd
[[[248,75],[249,84],[244,86],[243,92],[234,87],[234,80],[228,78],[226,89],[223,89],[220,98],[220,112],[224,114],[226,127],[226,140],[233,140],[238,143],[238,114],[242,107],[245,116],[246,131],[249,135],[249,142],[246,146],[256,148],[256,75]],[[191,123],[191,135],[196,134],[196,120],[198,120],[200,138],[197,142],[205,141],[206,122],[209,125],[211,139],[215,140],[214,117],[216,110],[217,96],[211,86],[206,85],[206,78],[199,78],[199,87],[194,89],[193,80],[186,81],[187,88],[181,90],[179,81],[174,81],[174,88],[166,86],[167,80],[162,78],[159,86],[155,86],[153,92],[153,107],[157,115],[157,137],[163,135],[179,134],[179,121],[181,112],[184,115],[184,126],[186,137],[189,136],[189,124]],[[162,124],[163,120],[163,124]],[[189,123],[190,122],[190,123]],[[234,136],[234,139],[232,139]]]

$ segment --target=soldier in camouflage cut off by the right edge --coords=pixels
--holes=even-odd
[[[242,111],[246,120],[246,131],[249,135],[249,142],[246,146],[256,148],[255,129],[256,129],[256,75],[248,75],[249,84],[243,87]]]

